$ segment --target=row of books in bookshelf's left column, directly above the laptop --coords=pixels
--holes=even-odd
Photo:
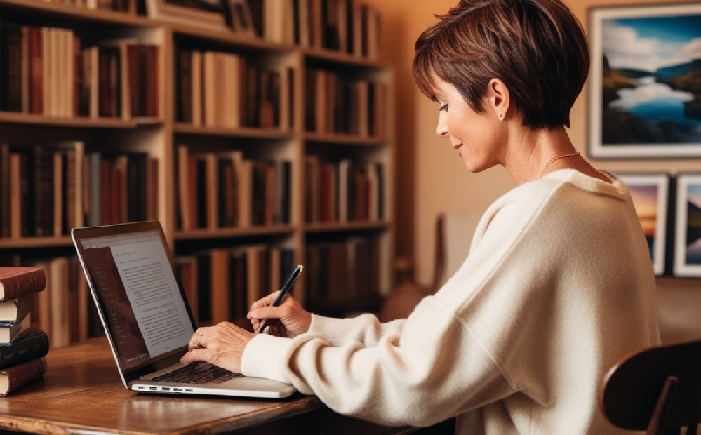
[[[85,152],[83,142],[0,143],[0,236],[157,219],[158,161]]]

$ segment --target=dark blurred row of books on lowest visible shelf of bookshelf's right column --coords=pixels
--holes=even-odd
[[[343,303],[380,295],[380,240],[352,237],[307,244],[309,304]]]

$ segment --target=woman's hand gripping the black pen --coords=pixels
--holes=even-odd
[[[270,304],[277,293],[271,293],[251,305],[247,317],[253,325],[253,330],[257,331],[260,321],[266,319],[265,325],[269,334],[292,338],[306,333],[312,324],[312,314],[302,308],[290,294],[285,296],[278,307],[272,307]]]

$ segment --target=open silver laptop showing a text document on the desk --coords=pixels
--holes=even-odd
[[[297,391],[208,363],[180,363],[196,325],[159,222],[74,228],[71,236],[124,387],[272,399]]]

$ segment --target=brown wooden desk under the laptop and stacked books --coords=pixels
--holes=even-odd
[[[343,417],[314,396],[152,396],[125,389],[106,339],[52,349],[44,378],[0,398],[0,428],[39,434],[406,434]]]

